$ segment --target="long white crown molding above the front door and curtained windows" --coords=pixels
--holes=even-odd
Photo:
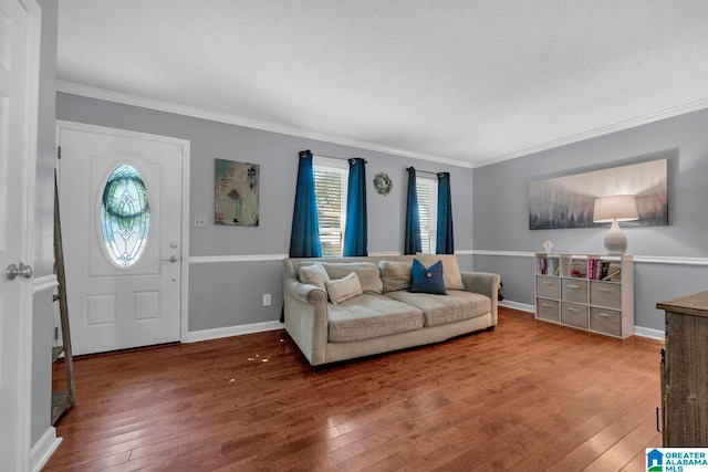
[[[347,139],[340,136],[310,132],[306,129],[295,128],[291,126],[283,126],[274,123],[244,118],[242,116],[211,112],[208,109],[196,108],[196,107],[186,106],[186,105],[178,105],[175,103],[163,102],[163,101],[153,99],[153,98],[145,98],[137,95],[129,95],[121,92],[107,91],[105,88],[92,87],[88,85],[82,85],[74,82],[56,81],[56,92],[84,96],[88,98],[103,99],[106,102],[119,103],[122,105],[137,106],[140,108],[148,108],[157,112],[171,113],[175,115],[189,116],[192,118],[208,119],[211,122],[225,123],[228,125],[243,126],[246,128],[260,129],[263,132],[278,133],[281,135],[296,136],[296,137],[306,138],[306,139],[332,143],[341,146],[356,147],[360,149],[373,150],[376,153],[391,154],[393,156],[398,156],[398,157],[421,159],[421,160],[444,164],[448,166],[456,166],[456,167],[466,167],[466,168],[475,167],[473,164],[466,162],[462,160],[449,159],[446,157],[434,156],[434,155],[423,154],[423,153],[414,153],[410,150],[382,146],[374,143],[366,143],[366,141],[361,141],[356,139]]]

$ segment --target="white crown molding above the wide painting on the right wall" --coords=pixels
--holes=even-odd
[[[700,109],[708,108],[708,98],[701,98],[696,102],[689,102],[684,105],[675,106],[659,112],[649,113],[648,115],[639,116],[637,118],[627,119],[624,122],[615,123],[600,128],[591,129],[576,135],[566,136],[560,139],[550,140],[537,146],[519,149],[513,153],[491,157],[489,159],[481,160],[475,165],[475,167],[485,167],[492,164],[501,162],[504,160],[516,159],[518,157],[528,156],[530,154],[540,153],[542,150],[553,149],[556,147],[565,146],[573,143],[583,141],[586,139],[596,138],[598,136],[608,135],[611,133],[622,132],[625,129],[634,128],[649,123],[659,122],[662,119],[671,118],[674,116],[685,115],[691,112],[698,112]]]

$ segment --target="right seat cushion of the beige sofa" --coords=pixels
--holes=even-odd
[[[491,312],[491,300],[488,296],[457,290],[447,291],[447,296],[404,291],[391,292],[386,296],[419,308],[425,315],[426,326],[475,318]]]

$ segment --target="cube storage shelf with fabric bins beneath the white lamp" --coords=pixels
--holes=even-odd
[[[535,318],[622,339],[632,336],[633,256],[537,253]]]

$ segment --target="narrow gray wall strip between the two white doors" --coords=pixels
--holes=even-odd
[[[53,273],[54,262],[54,156],[56,151],[56,0],[39,0],[42,8],[38,161],[35,191],[34,279]],[[34,295],[32,317],[32,424],[31,443],[51,426],[52,291]]]

